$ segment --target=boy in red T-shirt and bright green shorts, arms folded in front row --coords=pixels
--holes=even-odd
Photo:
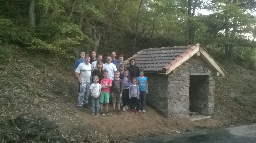
[[[100,114],[104,116],[102,112],[103,103],[106,103],[106,115],[108,116],[108,103],[109,103],[109,88],[112,85],[112,81],[108,78],[108,71],[104,71],[104,78],[100,81],[101,93],[100,93]]]

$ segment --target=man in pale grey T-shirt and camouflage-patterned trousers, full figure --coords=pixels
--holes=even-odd
[[[75,76],[80,83],[80,92],[78,96],[78,107],[84,111],[85,107],[90,108],[88,103],[88,96],[90,91],[90,77],[93,70],[92,65],[89,63],[90,57],[85,57],[85,62],[80,63],[75,70]]]

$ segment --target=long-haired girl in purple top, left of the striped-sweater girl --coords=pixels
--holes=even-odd
[[[123,77],[123,111],[128,110],[129,103],[129,86],[132,85],[129,70],[124,70]]]

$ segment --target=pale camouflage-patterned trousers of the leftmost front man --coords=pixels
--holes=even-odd
[[[80,84],[78,106],[87,105],[89,92],[90,92],[90,82],[82,82]]]

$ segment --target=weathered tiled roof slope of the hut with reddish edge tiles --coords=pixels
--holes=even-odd
[[[180,47],[162,47],[144,49],[130,57],[125,63],[132,58],[136,59],[136,66],[143,68],[147,72],[164,73],[168,69],[168,65],[180,60],[184,55],[189,53],[197,46],[180,46]]]

